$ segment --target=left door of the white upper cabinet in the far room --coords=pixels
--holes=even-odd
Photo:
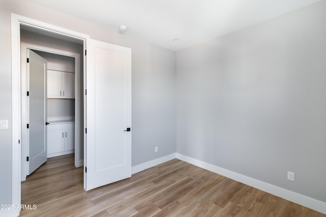
[[[47,70],[47,98],[62,97],[62,72]]]

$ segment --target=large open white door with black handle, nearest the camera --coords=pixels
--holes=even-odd
[[[131,177],[131,49],[87,40],[85,190]]]

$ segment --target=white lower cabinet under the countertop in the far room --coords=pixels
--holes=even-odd
[[[47,127],[47,157],[73,153],[75,149],[74,123],[56,123]]]

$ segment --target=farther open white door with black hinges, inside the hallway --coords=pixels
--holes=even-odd
[[[28,49],[28,153],[29,172],[40,167],[47,160],[46,145],[46,68],[44,58]]]

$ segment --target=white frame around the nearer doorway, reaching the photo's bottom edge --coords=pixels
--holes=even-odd
[[[84,50],[86,49],[86,42],[90,38],[88,35],[74,32],[72,30],[62,28],[56,25],[51,25],[45,22],[34,20],[28,17],[20,16],[11,13],[11,76],[12,76],[12,201],[11,204],[16,208],[20,207],[20,140],[21,140],[21,99],[20,99],[20,25],[26,25],[37,28],[49,34],[60,35],[83,41]],[[86,57],[84,58],[84,78],[86,76]],[[84,79],[84,88],[86,83]],[[84,95],[85,99],[85,95]],[[85,104],[84,104],[85,105]],[[85,109],[85,107],[84,107]],[[84,111],[85,116],[85,111]],[[85,144],[84,144],[85,149]],[[84,161],[86,159],[84,158]],[[85,165],[85,164],[84,164]],[[85,173],[85,171],[84,171]],[[11,216],[18,216],[20,209],[12,209]]]

